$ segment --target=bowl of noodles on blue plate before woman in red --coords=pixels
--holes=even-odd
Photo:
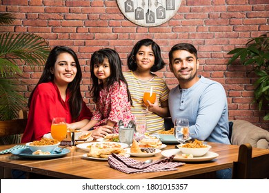
[[[26,147],[32,152],[41,150],[41,152],[53,152],[60,145],[60,142],[55,139],[42,138],[40,141],[26,143]]]

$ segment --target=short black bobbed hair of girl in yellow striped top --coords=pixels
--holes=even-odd
[[[166,63],[163,61],[161,57],[161,48],[152,39],[142,39],[135,44],[134,48],[132,48],[132,51],[130,52],[127,58],[127,65],[128,65],[129,70],[132,70],[132,71],[137,70],[137,63],[136,63],[135,56],[137,55],[137,52],[139,51],[142,45],[145,45],[145,46],[151,45],[151,48],[155,55],[155,64],[152,66],[150,71],[157,72],[158,70],[161,70]]]

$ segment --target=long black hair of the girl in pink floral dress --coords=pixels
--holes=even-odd
[[[110,48],[103,48],[101,50],[95,51],[92,54],[90,59],[90,74],[92,78],[92,88],[90,89],[90,93],[92,95],[92,99],[94,103],[96,103],[99,99],[99,91],[103,87],[103,83],[100,83],[99,79],[94,75],[94,64],[101,64],[105,59],[108,59],[109,67],[110,67],[110,77],[108,77],[108,87],[112,85],[114,82],[123,81],[126,83],[127,93],[128,93],[128,101],[132,104],[131,94],[128,89],[128,83],[126,79],[123,77],[123,73],[121,70],[121,58],[119,54]]]

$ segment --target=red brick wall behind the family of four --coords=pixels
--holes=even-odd
[[[0,12],[10,12],[17,18],[12,25],[1,26],[0,32],[33,32],[51,47],[66,45],[77,52],[83,70],[81,91],[92,110],[94,103],[88,93],[92,52],[105,47],[117,50],[125,71],[126,57],[140,39],[154,39],[166,62],[172,45],[188,42],[199,52],[199,73],[219,81],[226,89],[230,119],[244,119],[269,129],[268,121],[263,121],[268,108],[259,111],[252,103],[255,74],[248,73],[251,67],[226,65],[228,51],[269,32],[268,0],[183,0],[175,17],[151,28],[136,26],[124,18],[114,0],[0,0]],[[28,98],[41,72],[32,72],[26,65],[21,68],[21,91]],[[157,74],[170,88],[177,85],[168,65]]]

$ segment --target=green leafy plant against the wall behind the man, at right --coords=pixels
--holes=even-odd
[[[228,54],[233,54],[228,61],[228,65],[238,58],[243,65],[253,65],[253,70],[258,76],[254,83],[254,102],[259,103],[259,110],[264,103],[269,105],[269,37],[263,34],[260,37],[251,38],[246,43],[245,48],[235,48]],[[268,121],[269,113],[263,119]]]

